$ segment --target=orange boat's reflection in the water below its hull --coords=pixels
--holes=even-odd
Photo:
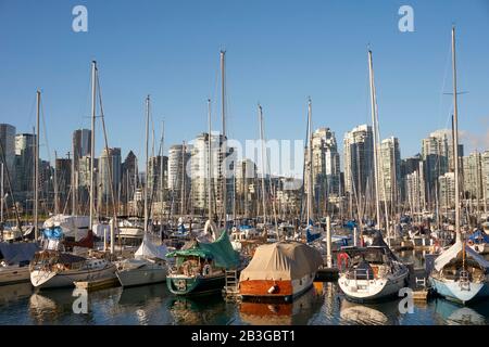
[[[243,323],[251,325],[304,325],[322,304],[322,286],[315,284],[288,304],[243,301],[239,305],[239,314]]]

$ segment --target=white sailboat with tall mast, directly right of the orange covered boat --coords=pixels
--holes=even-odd
[[[376,101],[372,51],[368,50],[372,117],[374,119],[374,154],[377,152]],[[374,179],[378,182],[377,156],[374,155]],[[385,190],[384,190],[385,191]],[[375,184],[377,223],[380,223],[378,184]],[[387,214],[387,209],[386,209]],[[387,223],[387,228],[389,224]],[[341,259],[338,284],[347,297],[354,301],[384,299],[398,294],[408,285],[409,269],[391,252],[380,231],[372,237],[367,247],[344,247],[338,255]]]

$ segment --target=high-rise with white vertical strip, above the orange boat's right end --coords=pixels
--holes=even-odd
[[[312,134],[312,169],[315,205],[325,213],[321,207],[329,196],[339,195],[340,185],[340,156],[335,132],[329,128],[319,128]]]

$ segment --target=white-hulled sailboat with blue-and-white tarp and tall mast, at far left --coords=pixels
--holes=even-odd
[[[29,266],[30,282],[38,288],[55,288],[74,286],[77,281],[92,281],[113,277],[115,265],[110,261],[110,255],[104,252],[91,252],[88,257],[82,257],[65,252],[65,246],[93,247],[93,160],[95,160],[95,119],[97,105],[97,62],[91,64],[91,157],[90,157],[90,219],[87,236],[77,242],[65,242],[60,227],[43,230],[43,249],[35,254]],[[38,100],[40,93],[38,92]],[[39,102],[38,102],[39,104]],[[36,190],[37,191],[37,190]],[[36,194],[37,195],[37,194]],[[36,205],[37,206],[37,200]],[[35,209],[37,221],[37,208]],[[37,222],[35,223],[37,239]],[[113,253],[113,230],[111,230],[111,252]]]

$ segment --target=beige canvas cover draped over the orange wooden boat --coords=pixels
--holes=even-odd
[[[317,249],[297,241],[280,241],[259,246],[239,280],[296,280],[315,273],[322,264]]]

